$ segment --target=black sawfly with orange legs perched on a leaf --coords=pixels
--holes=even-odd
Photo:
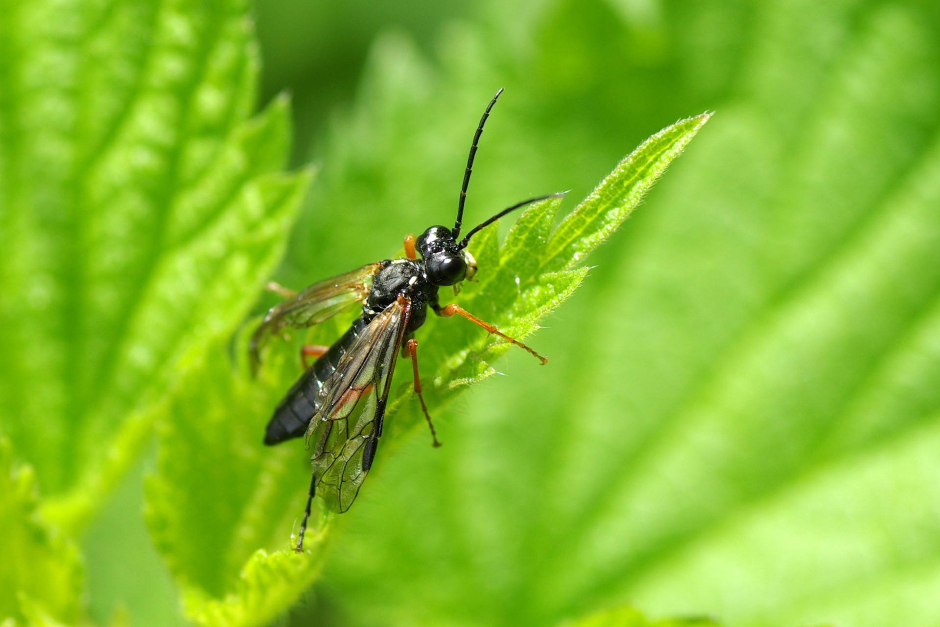
[[[282,329],[311,327],[347,307],[362,303],[362,314],[332,346],[302,347],[304,363],[311,358],[316,361],[305,369],[274,409],[264,436],[265,444],[274,445],[305,435],[307,448],[313,450],[313,478],[295,547],[297,551],[303,550],[304,532],[314,495],[319,494],[326,507],[334,512],[346,512],[355,500],[382,436],[385,404],[399,352],[412,361],[415,394],[431,428],[433,445],[440,446],[421,394],[417,341],[413,337],[415,329],[424,324],[428,307],[444,317],[461,315],[524,348],[541,363],[547,361],[525,344],[457,304],[442,307],[438,300],[440,287],[454,285],[456,294],[459,283],[472,280],[476,274],[477,263],[466,247],[480,229],[510,211],[561,195],[538,196],[516,203],[459,238],[463,204],[479,137],[501,93],[502,89],[493,96],[474,134],[454,228],[435,225],[416,239],[409,235],[404,238],[405,258],[378,261],[314,283],[301,292],[291,292],[276,283],[268,285],[269,289],[286,299],[264,316],[251,337],[249,350],[255,370],[260,362],[262,344]]]

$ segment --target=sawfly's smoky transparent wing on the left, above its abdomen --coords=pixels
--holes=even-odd
[[[249,350],[252,367],[258,368],[261,346],[281,329],[312,327],[347,307],[362,302],[368,296],[372,278],[380,269],[381,263],[356,268],[352,272],[314,283],[297,296],[272,307],[251,336]]]

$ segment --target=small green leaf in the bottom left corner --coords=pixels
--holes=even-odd
[[[0,437],[0,623],[53,625],[79,618],[82,562],[71,541],[42,519],[36,475]]]

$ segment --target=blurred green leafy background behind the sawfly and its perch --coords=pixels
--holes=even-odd
[[[652,132],[716,112],[532,338],[551,363],[510,354],[437,417],[441,450],[390,457],[286,624],[550,625],[621,603],[940,624],[935,2],[256,15],[259,105],[292,94],[292,161],[321,168],[277,273],[291,286],[451,220],[497,87],[468,222],[580,199]],[[123,604],[134,625],[181,622],[139,516],[149,465],[86,535],[101,621]]]

